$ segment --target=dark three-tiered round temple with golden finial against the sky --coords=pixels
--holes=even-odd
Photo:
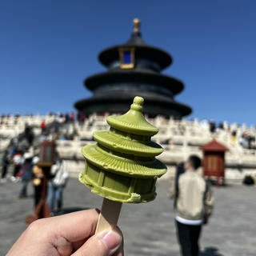
[[[145,98],[144,114],[149,117],[182,118],[191,113],[189,106],[174,100],[184,88],[182,82],[161,74],[172,62],[170,54],[142,40],[138,18],[134,19],[130,39],[102,50],[98,59],[108,71],[86,78],[84,84],[93,96],[75,102],[79,112],[86,116],[122,114],[135,96],[141,96]]]

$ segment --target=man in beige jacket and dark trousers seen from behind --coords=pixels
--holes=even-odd
[[[175,178],[170,197],[174,198],[176,227],[182,256],[198,256],[198,240],[202,224],[206,224],[213,209],[210,185],[198,174],[201,160],[190,156],[185,172]]]

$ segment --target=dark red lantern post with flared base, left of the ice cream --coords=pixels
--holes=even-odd
[[[50,207],[46,202],[47,198],[47,180],[50,176],[50,167],[54,164],[55,144],[52,141],[43,141],[41,143],[39,162],[37,165],[42,168],[42,192],[41,199],[34,209],[34,214],[26,217],[26,223],[30,224],[38,218],[50,217]]]

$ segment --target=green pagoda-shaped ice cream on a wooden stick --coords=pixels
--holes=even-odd
[[[118,202],[154,200],[166,166],[155,158],[163,149],[150,140],[158,129],[143,117],[143,102],[135,97],[126,114],[108,117],[110,130],[94,132],[98,143],[82,148],[86,170],[79,180],[95,194]]]

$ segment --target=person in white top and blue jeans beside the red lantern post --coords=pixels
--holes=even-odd
[[[47,202],[50,206],[50,211],[54,213],[55,201],[57,202],[57,212],[62,210],[62,191],[66,186],[69,176],[68,170],[66,169],[66,162],[57,157],[56,163],[51,166],[50,174],[54,176],[54,178],[51,178],[48,183]]]

